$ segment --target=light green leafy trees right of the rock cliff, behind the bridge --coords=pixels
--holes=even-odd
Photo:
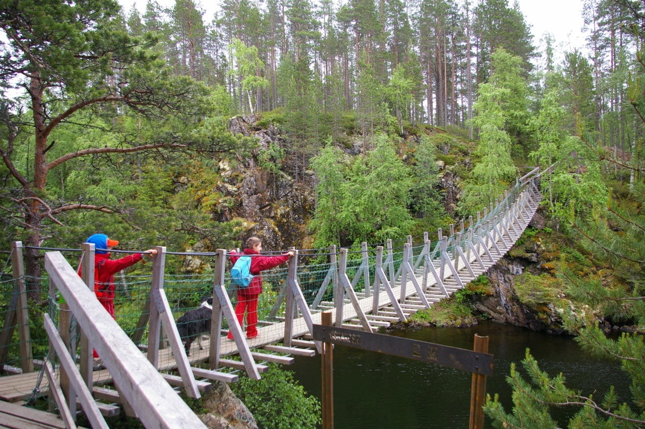
[[[310,228],[317,246],[384,241],[407,234],[412,180],[385,135],[375,138],[365,164],[328,146],[312,160],[318,204]]]

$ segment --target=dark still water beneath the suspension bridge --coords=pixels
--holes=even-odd
[[[562,372],[570,388],[601,399],[613,384],[620,402],[631,403],[629,377],[617,363],[599,361],[582,352],[570,336],[532,332],[517,326],[483,323],[472,328],[426,328],[395,332],[406,338],[472,349],[475,334],[490,337],[495,375],[486,392],[498,393],[507,412],[510,365],[520,366],[526,348],[542,370],[553,377]],[[297,357],[293,370],[305,390],[321,399],[321,358]],[[522,368],[525,379],[526,373]],[[333,352],[334,426],[349,428],[467,428],[470,414],[470,372],[462,372],[399,357],[335,346]],[[553,416],[564,426],[574,409]],[[488,418],[486,427],[492,427]]]

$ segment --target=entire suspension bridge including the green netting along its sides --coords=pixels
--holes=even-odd
[[[315,355],[320,344],[310,332],[322,312],[331,312],[336,326],[373,332],[450,297],[486,273],[522,235],[542,199],[540,174],[535,168],[518,178],[490,207],[450,225],[450,231],[438,230],[433,241],[424,233],[420,244],[408,236],[401,246],[388,240],[362,243],[356,251],[294,249],[287,268],[263,272],[254,339],[244,337],[235,318],[226,250],[185,254],[158,246],[151,275],[116,276],[114,320],[94,297],[94,244],[79,250],[82,278],[68,262],[78,256],[66,259],[63,254],[72,250],[59,249],[45,252],[46,277],[29,279],[23,246],[15,242],[13,277],[0,279],[6,292],[0,295],[6,303],[0,428],[74,428],[79,409],[92,427],[107,428],[104,417],[121,412],[119,404],[147,428],[205,427],[181,401],[178,388],[199,398],[213,380],[235,383],[241,372],[259,379],[266,363],[291,364],[294,356]],[[212,274],[168,274],[169,257],[208,261]],[[27,284],[34,282],[45,291],[43,310],[27,306]],[[204,295],[213,297],[210,336],[195,341],[186,355],[175,319]],[[42,324],[45,334],[30,331],[34,315],[39,320],[31,322],[32,329]],[[229,332],[233,341],[226,339]],[[98,368],[92,348],[102,358]],[[21,406],[45,396],[59,416]]]

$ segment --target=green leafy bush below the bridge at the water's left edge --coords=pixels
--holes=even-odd
[[[241,377],[230,385],[248,407],[261,428],[316,428],[321,423],[321,406],[293,379],[293,373],[269,364],[259,380]]]

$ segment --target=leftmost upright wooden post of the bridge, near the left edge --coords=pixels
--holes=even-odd
[[[23,374],[34,372],[34,356],[32,355],[32,335],[29,331],[29,308],[27,304],[27,288],[25,283],[25,262],[23,261],[23,242],[11,243],[14,251],[11,263],[14,269],[14,279],[18,283],[18,303],[16,314],[18,316],[18,334],[20,339],[20,366]]]

